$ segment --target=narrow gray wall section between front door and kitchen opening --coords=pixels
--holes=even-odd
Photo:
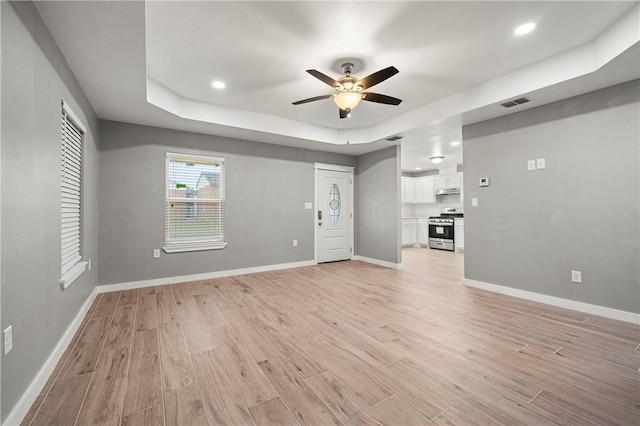
[[[400,250],[400,146],[358,157],[356,254],[402,263]]]

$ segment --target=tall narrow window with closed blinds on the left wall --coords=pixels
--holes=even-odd
[[[60,284],[65,289],[82,274],[82,148],[86,130],[62,102],[62,181]]]

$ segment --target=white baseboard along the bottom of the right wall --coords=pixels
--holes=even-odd
[[[464,285],[468,287],[475,287],[482,290],[492,291],[494,293],[506,294],[507,296],[518,297],[520,299],[546,303],[547,305],[557,306],[559,308],[571,309],[591,315],[598,315],[605,318],[630,322],[632,324],[640,324],[640,314],[634,314],[633,312],[620,311],[618,309],[607,308],[605,306],[591,305],[589,303],[578,302],[576,300],[563,299],[560,297],[534,293],[531,291],[505,287],[497,284],[485,283],[468,278],[464,279]]]

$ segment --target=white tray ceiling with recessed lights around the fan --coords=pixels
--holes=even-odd
[[[461,125],[640,77],[638,2],[37,2],[100,118],[361,154],[401,135],[402,168],[462,163]],[[516,37],[513,29],[537,28]],[[340,120],[331,77],[400,73]],[[599,71],[598,71],[599,70]],[[597,72],[596,72],[597,71]],[[220,91],[211,81],[222,80]],[[505,110],[500,101],[532,102]],[[396,142],[397,143],[397,142]]]

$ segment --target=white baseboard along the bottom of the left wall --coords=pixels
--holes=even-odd
[[[27,390],[22,394],[22,397],[20,397],[20,400],[18,401],[16,406],[13,407],[11,413],[9,413],[9,415],[7,416],[7,419],[5,420],[3,425],[19,425],[20,422],[22,422],[22,419],[24,419],[24,416],[27,415],[27,412],[35,402],[36,398],[38,397],[38,395],[40,395],[40,392],[42,391],[42,388],[44,388],[44,385],[47,383],[47,380],[49,380],[49,376],[51,376],[51,373],[53,373],[56,365],[58,365],[58,362],[62,358],[62,355],[67,349],[67,346],[69,346],[71,339],[73,339],[73,336],[80,328],[82,320],[87,315],[87,312],[89,312],[89,308],[91,307],[91,304],[95,300],[97,294],[98,292],[94,289],[93,292],[89,295],[87,300],[78,311],[78,314],[75,316],[73,321],[71,321],[69,327],[67,327],[67,330],[62,335],[62,338],[58,341],[58,344],[53,349],[51,355],[49,355],[49,358],[47,358],[47,361],[44,363],[40,371],[38,371],[38,374],[33,379]]]

